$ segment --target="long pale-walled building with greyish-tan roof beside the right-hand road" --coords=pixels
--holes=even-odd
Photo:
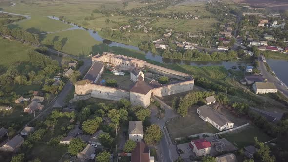
[[[255,82],[253,90],[256,94],[277,93],[277,88],[272,82]]]

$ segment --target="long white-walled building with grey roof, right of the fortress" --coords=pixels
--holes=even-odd
[[[199,107],[197,109],[197,114],[199,114],[199,117],[201,119],[209,122],[219,131],[231,129],[234,127],[233,122],[229,121],[227,118],[225,118],[223,115],[221,115],[209,106],[204,105]]]

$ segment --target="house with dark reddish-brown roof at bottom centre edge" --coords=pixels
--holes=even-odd
[[[154,162],[154,156],[150,155],[150,149],[143,142],[137,142],[131,152],[131,162]]]

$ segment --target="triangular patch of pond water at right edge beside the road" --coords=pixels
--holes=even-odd
[[[276,76],[288,85],[288,61],[279,59],[266,59],[266,62],[271,67],[272,71],[275,72]]]

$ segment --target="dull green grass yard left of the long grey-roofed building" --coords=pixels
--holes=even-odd
[[[188,109],[186,117],[180,117],[167,123],[167,128],[172,139],[190,136],[198,133],[217,133],[219,132],[211,124],[206,124],[196,113],[195,106]]]

